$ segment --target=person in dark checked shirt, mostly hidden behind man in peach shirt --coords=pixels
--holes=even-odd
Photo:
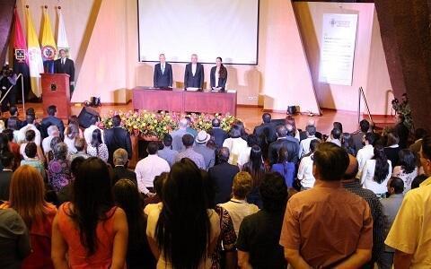
[[[383,240],[384,240],[384,217],[383,207],[377,195],[372,190],[363,188],[359,179],[356,178],[358,170],[358,162],[355,156],[348,154],[348,167],[341,180],[341,184],[349,192],[361,196],[370,206],[371,215],[373,216],[373,251],[372,259],[369,265],[374,265],[375,262],[381,264],[383,256]]]

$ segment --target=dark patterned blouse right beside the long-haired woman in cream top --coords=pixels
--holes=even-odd
[[[218,243],[216,250],[211,256],[213,261],[212,269],[220,269],[223,268],[224,265],[221,265],[222,255],[226,251],[235,251],[235,242],[236,242],[236,233],[233,228],[233,221],[231,216],[221,206],[216,206],[216,213],[220,216],[220,236],[218,237]]]

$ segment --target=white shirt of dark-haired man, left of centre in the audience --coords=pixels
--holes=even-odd
[[[148,157],[136,163],[135,173],[137,180],[137,188],[143,194],[148,194],[150,191],[146,187],[154,187],[153,181],[156,176],[160,176],[163,172],[169,172],[171,168],[169,163],[156,154],[148,155]]]

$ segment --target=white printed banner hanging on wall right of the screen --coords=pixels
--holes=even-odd
[[[352,85],[357,14],[323,14],[319,82]]]

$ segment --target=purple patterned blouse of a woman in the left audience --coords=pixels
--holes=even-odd
[[[58,192],[69,184],[70,169],[66,160],[52,160],[48,164],[48,182]]]

